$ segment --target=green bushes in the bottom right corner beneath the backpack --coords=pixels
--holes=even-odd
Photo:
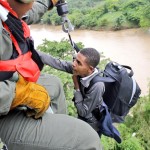
[[[150,101],[148,96],[140,98],[131,109],[123,124],[117,124],[122,137],[122,143],[117,144],[113,139],[102,137],[106,150],[149,150],[150,147]]]

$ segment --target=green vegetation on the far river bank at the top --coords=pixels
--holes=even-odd
[[[150,26],[150,0],[67,0],[69,19],[75,28],[120,30]],[[56,9],[47,12],[43,23],[60,25]]]

